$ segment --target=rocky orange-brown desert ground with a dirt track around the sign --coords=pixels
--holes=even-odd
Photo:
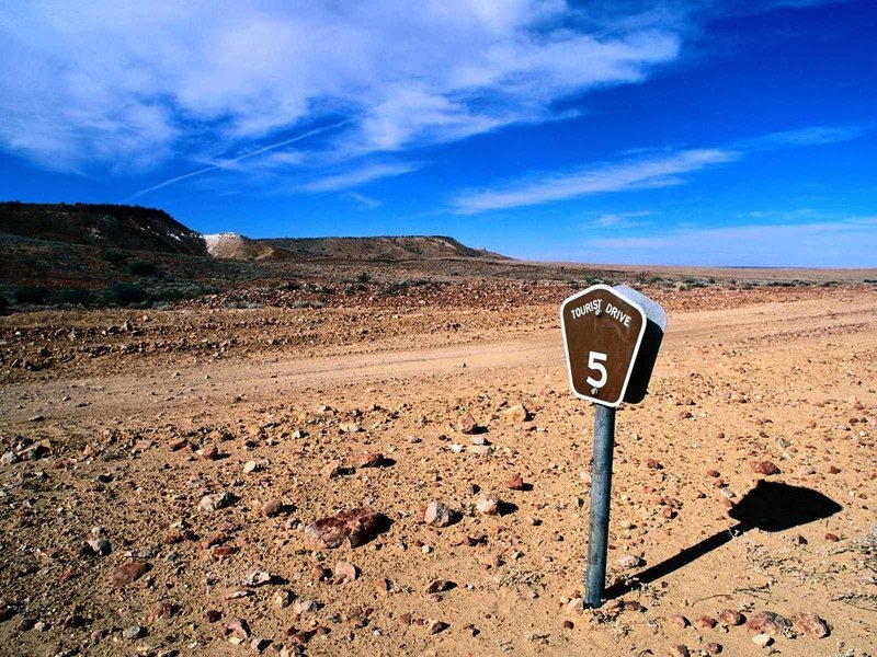
[[[0,318],[0,654],[877,653],[873,286],[643,290],[596,610],[572,290],[460,286]]]

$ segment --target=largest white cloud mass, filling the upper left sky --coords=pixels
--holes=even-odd
[[[679,56],[675,27],[607,25],[561,0],[13,3],[0,148],[148,169],[338,116],[353,119],[330,145],[345,157],[456,140],[645,79]]]

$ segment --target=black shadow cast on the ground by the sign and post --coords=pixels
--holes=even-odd
[[[624,581],[606,589],[605,598],[612,599],[630,592],[639,585],[651,584],[693,563],[717,548],[730,542],[734,534],[750,529],[762,531],[785,531],[794,527],[815,522],[833,516],[842,509],[833,499],[821,493],[801,486],[779,482],[759,481],[730,511],[737,525],[708,537],[675,556],[647,568]]]

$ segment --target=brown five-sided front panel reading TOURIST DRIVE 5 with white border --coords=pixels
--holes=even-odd
[[[606,285],[563,301],[560,324],[576,396],[604,406],[622,403],[646,322],[639,304]]]

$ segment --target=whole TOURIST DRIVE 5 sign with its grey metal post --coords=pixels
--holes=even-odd
[[[594,402],[594,466],[584,601],[603,603],[610,532],[615,408],[642,401],[661,346],[667,315],[627,287],[595,285],[560,306],[570,388]]]

